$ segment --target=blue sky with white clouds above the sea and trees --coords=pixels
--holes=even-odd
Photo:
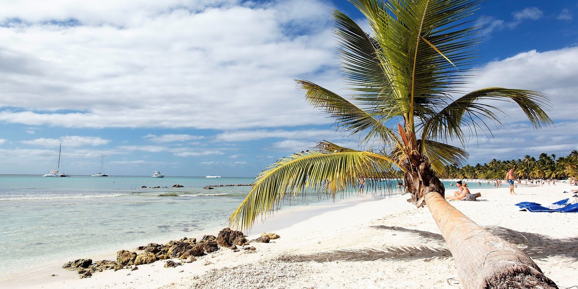
[[[328,140],[295,79],[341,89],[330,13],[346,0],[0,0],[0,174],[255,177]],[[578,149],[578,0],[494,0],[475,85],[546,93],[555,126],[503,103],[468,163]]]

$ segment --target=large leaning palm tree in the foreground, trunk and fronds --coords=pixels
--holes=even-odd
[[[517,104],[534,127],[551,123],[542,109],[546,96],[540,92],[490,87],[464,94],[480,30],[467,25],[484,0],[350,2],[372,29],[366,33],[345,14],[332,14],[344,84],[354,94],[343,97],[309,81],[297,82],[307,101],[335,118],[336,126],[361,134],[363,144],[379,140],[379,151],[321,141],[316,151],[284,157],[257,175],[253,189],[231,215],[231,225],[250,227],[286,194],[309,189],[344,195],[360,177],[401,170],[405,189],[412,193],[408,201],[418,208],[427,204],[454,256],[462,287],[555,286],[516,246],[444,200],[438,178],[444,165],[463,164],[468,156],[448,141],[464,147],[464,129],[477,135],[501,125],[495,114],[501,110],[484,100]]]

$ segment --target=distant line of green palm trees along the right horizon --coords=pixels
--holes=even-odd
[[[556,158],[556,155],[540,153],[538,159],[526,155],[524,159],[497,160],[489,163],[463,167],[446,166],[442,178],[468,179],[503,179],[506,172],[514,168],[514,174],[520,179],[566,179],[578,177],[578,151],[568,156]]]

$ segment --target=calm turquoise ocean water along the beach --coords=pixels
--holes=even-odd
[[[253,178],[0,175],[0,279],[23,269],[114,254],[227,227]],[[446,182],[446,190],[449,188]],[[173,188],[173,185],[184,187]],[[470,188],[488,188],[485,183]],[[147,188],[142,188],[147,186]],[[152,189],[150,187],[160,186]],[[384,184],[387,186],[387,184]],[[375,198],[398,192],[370,189]],[[355,198],[350,194],[349,198]],[[292,207],[333,202],[308,194]],[[287,208],[289,201],[281,204]],[[60,264],[60,263],[59,263]]]

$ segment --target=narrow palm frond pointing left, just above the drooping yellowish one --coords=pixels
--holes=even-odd
[[[377,136],[380,140],[390,144],[399,143],[395,133],[381,123],[382,115],[368,114],[344,97],[313,82],[297,80],[297,83],[305,90],[307,101],[334,117],[338,127],[343,127],[351,134],[368,130],[368,134],[362,142],[372,140],[373,137]]]

